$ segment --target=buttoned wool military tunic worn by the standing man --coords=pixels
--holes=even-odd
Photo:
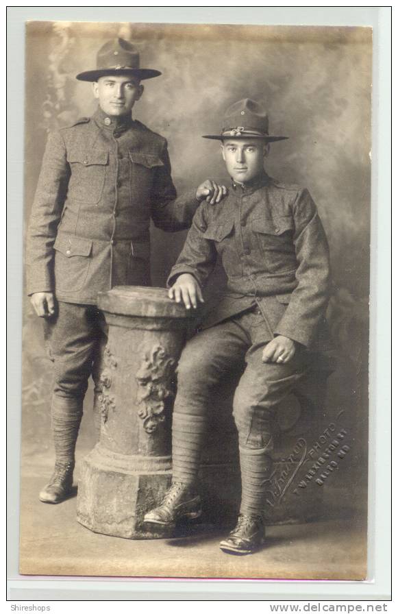
[[[149,223],[189,228],[195,193],[176,198],[166,139],[138,121],[92,118],[49,136],[27,236],[28,294],[95,304],[150,284]]]

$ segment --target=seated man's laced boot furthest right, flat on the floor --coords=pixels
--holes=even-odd
[[[229,537],[220,542],[220,548],[227,554],[251,554],[264,541],[264,521],[258,515],[240,514],[238,524]]]

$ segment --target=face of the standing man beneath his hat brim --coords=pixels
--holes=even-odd
[[[104,113],[121,116],[131,113],[134,103],[142,96],[144,86],[135,77],[109,75],[99,77],[92,84],[92,90]]]

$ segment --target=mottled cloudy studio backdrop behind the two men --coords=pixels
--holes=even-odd
[[[329,410],[345,410],[354,448],[342,483],[366,481],[369,211],[371,191],[371,29],[121,23],[27,24],[25,219],[40,171],[47,133],[90,115],[90,84],[75,75],[95,67],[108,38],[136,43],[142,67],[162,71],[145,82],[134,116],[169,140],[179,193],[211,177],[227,182],[219,145],[201,134],[219,132],[230,103],[251,97],[269,110],[273,177],[309,188],[329,238],[334,295],[329,321],[339,352],[330,378]],[[152,232],[153,284],[163,286],[184,233]],[[51,450],[51,363],[41,322],[25,302],[23,453]],[[90,405],[88,396],[86,406]],[[90,411],[79,446],[92,441]],[[349,480],[347,479],[349,477]]]

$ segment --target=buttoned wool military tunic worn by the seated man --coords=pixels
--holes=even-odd
[[[325,349],[329,250],[308,190],[264,173],[234,184],[220,207],[201,204],[169,284],[191,273],[203,286],[218,256],[227,290],[201,328],[257,305],[264,341],[282,334]]]

